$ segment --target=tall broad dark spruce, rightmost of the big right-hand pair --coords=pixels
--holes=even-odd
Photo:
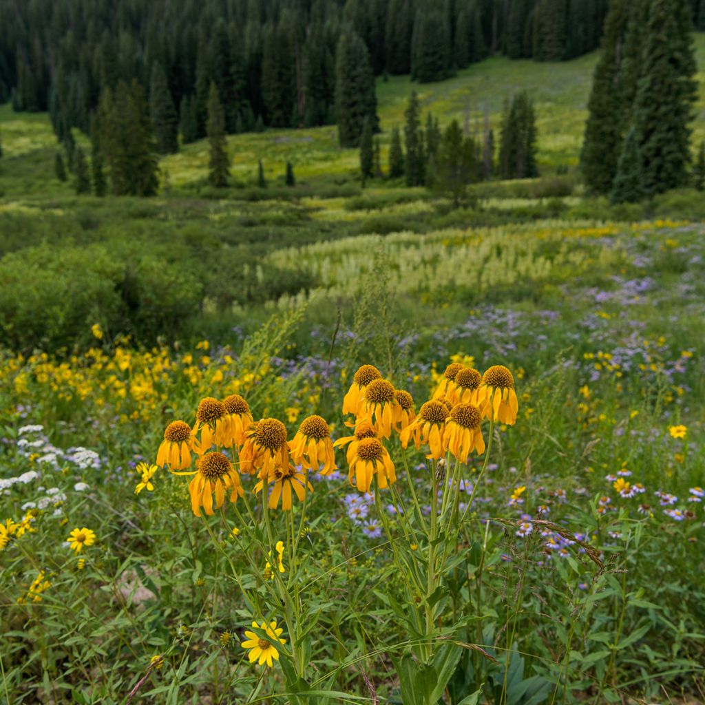
[[[650,10],[632,111],[647,196],[687,183],[689,123],[697,97],[687,0],[653,0]]]

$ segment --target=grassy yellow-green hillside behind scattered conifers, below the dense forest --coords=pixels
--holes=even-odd
[[[705,139],[705,34],[695,38],[700,99],[696,106],[694,143]],[[394,125],[403,125],[407,98],[416,90],[424,111],[431,110],[447,123],[465,121],[466,106],[471,128],[481,128],[484,106],[498,133],[503,103],[515,91],[526,89],[537,103],[539,166],[544,173],[558,166],[575,166],[580,154],[587,115],[592,72],[597,54],[563,63],[488,59],[460,71],[450,80],[419,85],[408,76],[380,79],[377,86],[381,142],[388,142]],[[68,185],[54,178],[55,140],[44,114],[13,114],[0,106],[0,130],[6,153],[0,169],[0,193],[6,196],[60,195],[71,193]],[[266,176],[283,183],[286,161],[291,161],[299,180],[342,182],[357,176],[354,149],[338,147],[336,128],[267,130],[261,134],[228,137],[233,157],[232,173],[242,184],[255,182],[257,160],[262,159]],[[384,150],[386,151],[386,150]],[[162,167],[172,186],[190,187],[203,183],[208,153],[205,141],[184,147],[180,154],[166,157]],[[386,154],[383,156],[386,161]]]

